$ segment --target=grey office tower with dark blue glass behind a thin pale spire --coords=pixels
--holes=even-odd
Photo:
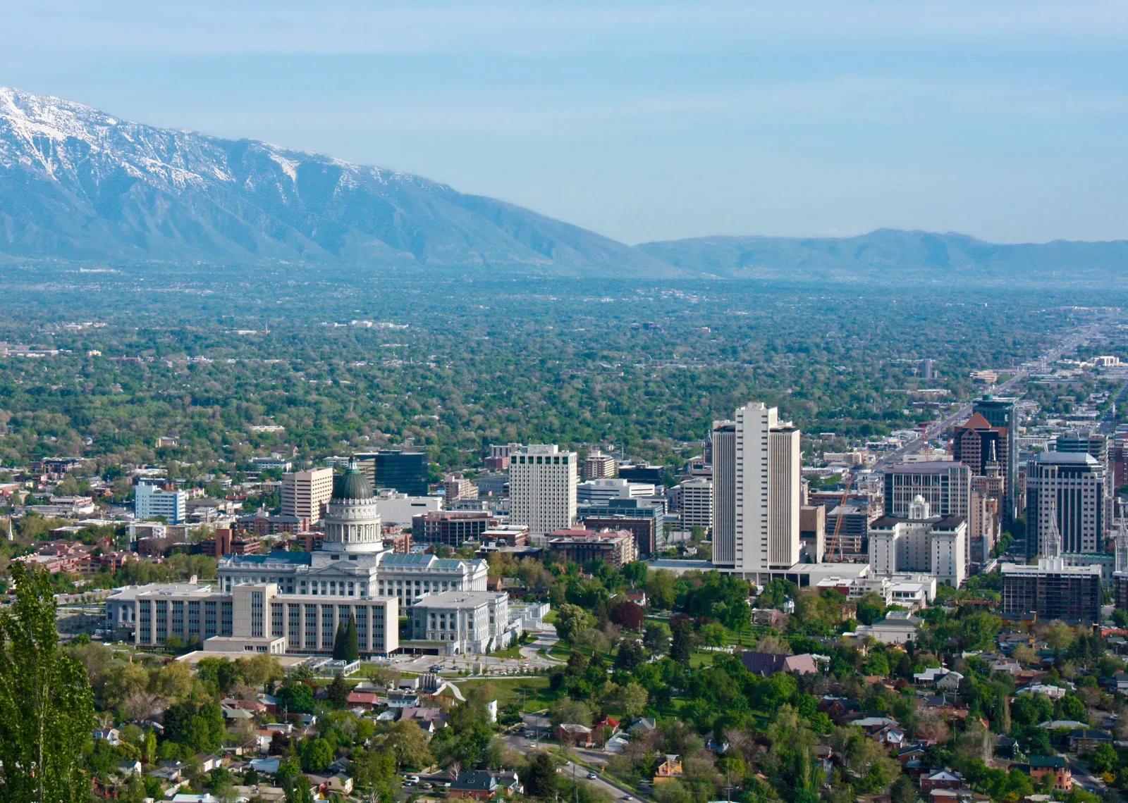
[[[1087,452],[1042,452],[1026,462],[1026,557],[1056,557],[1058,539],[1064,554],[1104,551],[1107,482]]]

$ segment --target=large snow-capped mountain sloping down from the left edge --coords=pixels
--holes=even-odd
[[[676,273],[609,238],[418,176],[7,88],[0,254]]]

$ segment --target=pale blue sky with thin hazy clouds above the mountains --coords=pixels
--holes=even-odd
[[[1121,0],[3,0],[0,85],[625,242],[1128,238]]]

